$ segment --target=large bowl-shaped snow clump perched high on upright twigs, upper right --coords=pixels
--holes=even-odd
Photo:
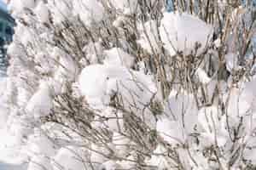
[[[195,54],[196,43],[201,54],[212,38],[212,26],[190,14],[165,13],[161,20],[160,37],[171,55],[183,52]]]

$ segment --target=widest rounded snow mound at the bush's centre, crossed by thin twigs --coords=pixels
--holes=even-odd
[[[142,108],[155,92],[151,77],[129,71],[123,66],[89,65],[79,78],[79,88],[91,105],[107,105],[110,97],[118,93],[126,106]],[[148,87],[146,89],[143,89]]]

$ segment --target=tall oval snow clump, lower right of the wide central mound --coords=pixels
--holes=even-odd
[[[157,121],[157,131],[170,144],[183,144],[197,123],[195,99],[186,92],[179,95],[172,92],[164,112]]]

